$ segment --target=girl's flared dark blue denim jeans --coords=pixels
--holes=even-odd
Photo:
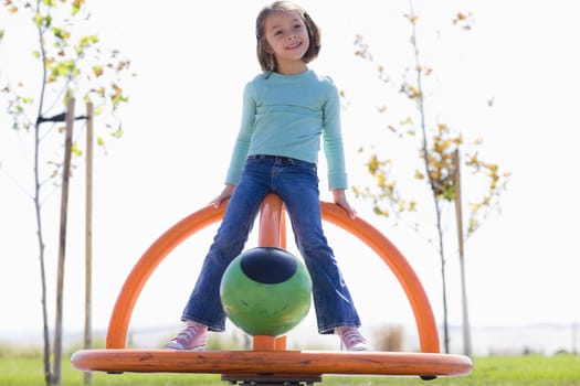
[[[359,326],[355,304],[324,235],[316,164],[274,156],[249,157],[181,319],[205,324],[211,331],[225,329],[221,278],[242,253],[268,193],[280,195],[284,202],[296,245],[310,274],[318,332]]]

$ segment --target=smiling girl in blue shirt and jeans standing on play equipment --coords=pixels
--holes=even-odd
[[[348,351],[368,350],[360,320],[320,218],[316,163],[324,139],[328,183],[336,204],[354,218],[340,133],[340,101],[328,77],[307,67],[320,50],[317,25],[299,7],[276,1],[256,19],[257,58],[263,73],[244,89],[241,129],[225,179],[213,200],[230,202],[200,276],[183,310],[186,329],[167,349],[203,350],[205,332],[223,331],[221,277],[239,256],[268,193],[278,194],[313,281],[318,332],[335,333]]]

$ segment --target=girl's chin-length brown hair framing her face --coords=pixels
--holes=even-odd
[[[310,19],[308,13],[306,13],[302,7],[289,1],[275,1],[272,4],[264,7],[256,18],[256,53],[262,71],[273,72],[276,71],[278,66],[276,63],[276,57],[268,50],[264,34],[266,19],[273,12],[296,12],[300,15],[304,24],[306,25],[306,31],[308,32],[308,40],[310,41],[308,50],[302,60],[305,63],[309,63],[316,58],[320,52],[320,31],[318,30],[316,23]]]

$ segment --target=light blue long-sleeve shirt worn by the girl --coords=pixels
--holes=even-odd
[[[329,189],[347,189],[340,98],[329,77],[257,75],[243,94],[242,122],[225,183],[236,184],[247,156],[283,156],[318,163],[320,138]]]

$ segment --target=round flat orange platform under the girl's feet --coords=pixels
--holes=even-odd
[[[463,355],[401,352],[334,351],[175,351],[80,350],[71,360],[81,371],[108,373],[205,373],[246,375],[466,375],[472,361]]]

